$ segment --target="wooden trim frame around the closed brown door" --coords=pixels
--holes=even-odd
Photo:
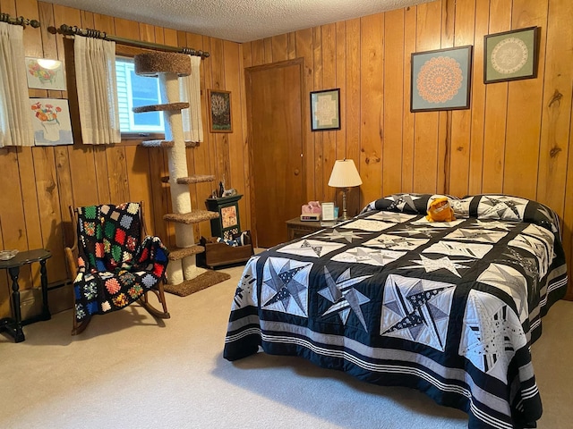
[[[259,240],[257,237],[257,212],[256,208],[256,198],[255,198],[255,186],[257,186],[255,177],[254,177],[254,168],[253,168],[253,144],[252,144],[252,104],[251,104],[251,88],[252,88],[252,73],[256,71],[263,71],[268,69],[278,69],[280,67],[288,67],[291,65],[298,65],[300,69],[300,82],[301,82],[301,138],[302,138],[302,154],[306,156],[307,154],[307,147],[306,147],[306,129],[308,128],[307,123],[307,115],[306,115],[306,81],[304,79],[304,57],[295,58],[293,60],[286,60],[280,61],[277,63],[267,63],[261,65],[253,65],[251,67],[244,68],[244,88],[245,88],[245,99],[246,99],[246,109],[247,109],[247,146],[249,147],[249,178],[251,179],[251,186],[249,187],[249,197],[250,197],[250,207],[251,210],[251,235],[252,235],[252,242],[254,243],[255,247],[259,247]],[[302,181],[303,181],[303,195],[308,195],[306,192],[306,168],[305,168],[305,160],[303,158],[302,163]],[[304,203],[302,203],[304,204]],[[286,223],[285,223],[286,229]]]

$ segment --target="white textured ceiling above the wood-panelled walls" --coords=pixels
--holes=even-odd
[[[190,33],[249,42],[429,0],[44,0]]]

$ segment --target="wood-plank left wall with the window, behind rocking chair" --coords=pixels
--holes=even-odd
[[[107,15],[88,13],[37,0],[0,0],[0,12],[13,17],[24,16],[41,22],[39,29],[24,29],[25,54],[58,59],[65,63],[67,91],[30,89],[30,97],[67,98],[72,114],[75,143],[62,147],[0,148],[0,248],[49,248],[53,257],[47,261],[50,283],[68,280],[64,261],[64,243],[71,243],[73,226],[68,206],[120,203],[143,200],[148,230],[167,244],[175,244],[174,228],[163,222],[170,211],[167,184],[167,154],[159,148],[144,148],[137,142],[106,147],[81,144],[78,132],[77,97],[73,82],[73,43],[53,34],[50,27],[61,24],[83,29],[100,29],[122,38],[156,42],[170,46],[189,46],[210,52],[201,62],[201,112],[204,142],[187,149],[190,173],[214,174],[228,188],[244,194],[240,201],[243,228],[250,224],[248,170],[244,168],[246,130],[244,124],[242,47],[234,42],[166,29]],[[118,53],[130,50],[117,45]],[[211,134],[207,116],[207,88],[232,93],[233,133]],[[76,108],[74,109],[74,105]],[[192,206],[205,208],[215,183],[191,185]],[[210,223],[195,228],[196,240],[210,236]],[[38,267],[21,270],[21,290],[39,285]],[[10,283],[0,273],[0,317],[10,315]],[[27,295],[23,294],[25,299]],[[50,292],[50,309],[58,311],[73,305],[71,288]],[[23,302],[22,306],[25,307]]]

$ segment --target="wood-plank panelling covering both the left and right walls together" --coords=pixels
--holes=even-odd
[[[328,180],[334,161],[344,156],[355,160],[363,179],[363,186],[350,192],[353,214],[400,191],[534,198],[560,215],[569,267],[573,264],[570,0],[437,0],[242,45],[37,0],[0,0],[0,11],[42,22],[40,29],[24,30],[26,55],[66,63],[71,44],[47,31],[51,25],[209,51],[210,58],[201,62],[205,142],[189,152],[189,170],[215,174],[244,194],[243,229],[251,225],[244,67],[302,57],[307,92],[340,88],[342,123],[338,131],[312,132],[306,117],[305,200],[338,198],[340,204]],[[484,85],[483,36],[534,25],[541,28],[538,77]],[[410,113],[411,53],[466,45],[474,46],[471,108]],[[232,92],[233,133],[209,133],[206,88]],[[30,96],[67,97],[73,111],[72,90],[30,90]],[[77,124],[77,117],[73,121]],[[63,247],[71,234],[69,205],[143,199],[152,231],[173,241],[173,229],[161,220],[169,207],[167,185],[159,181],[167,173],[167,156],[133,142],[84,147],[75,136],[73,147],[0,149],[0,247],[50,248],[50,282],[67,278]],[[191,189],[193,206],[202,207],[212,186]],[[209,223],[196,232],[209,235]],[[23,288],[38,285],[37,269],[24,269],[21,277]],[[51,305],[52,300],[71,306],[71,297],[56,296]],[[3,273],[0,315],[8,314],[9,306]]]

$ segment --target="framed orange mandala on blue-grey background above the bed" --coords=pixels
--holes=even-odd
[[[469,109],[472,46],[412,54],[410,111]]]

